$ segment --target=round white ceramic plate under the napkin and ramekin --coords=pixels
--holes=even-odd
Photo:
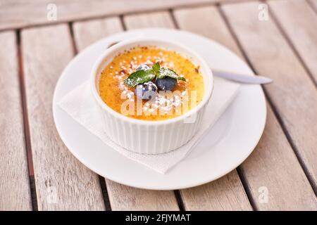
[[[254,150],[266,122],[266,100],[259,85],[242,85],[230,107],[209,134],[167,174],[159,174],[125,158],[77,124],[56,103],[89,79],[97,58],[116,41],[132,37],[168,37],[197,51],[211,68],[252,74],[235,53],[197,34],[168,29],[121,32],[101,39],[79,53],[58,79],[53,99],[54,121],[61,139],[75,157],[97,174],[120,184],[155,190],[189,188],[218,179],[240,165]]]

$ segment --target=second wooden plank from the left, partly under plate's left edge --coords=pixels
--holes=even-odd
[[[63,145],[54,126],[52,96],[73,57],[68,25],[21,33],[27,112],[39,210],[104,210],[97,174]]]

